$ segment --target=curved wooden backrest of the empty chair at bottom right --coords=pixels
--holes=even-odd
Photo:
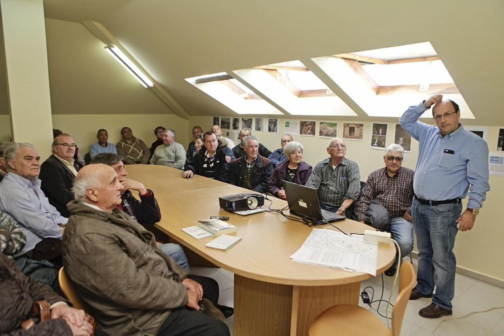
[[[408,304],[415,281],[416,274],[413,265],[408,261],[402,262],[399,273],[399,296],[392,309],[392,336],[399,336],[401,333],[404,312],[406,311],[406,305]]]

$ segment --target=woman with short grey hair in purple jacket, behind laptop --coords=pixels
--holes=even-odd
[[[296,141],[287,143],[283,152],[287,161],[277,164],[268,183],[268,192],[278,198],[286,199],[282,181],[286,180],[304,185],[311,175],[311,166],[303,161],[303,145]]]

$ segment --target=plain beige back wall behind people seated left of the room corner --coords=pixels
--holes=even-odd
[[[124,126],[130,127],[133,135],[142,139],[149,148],[156,140],[154,128],[157,126],[173,128],[176,132],[175,141],[180,142],[184,147],[188,139],[184,134],[188,127],[187,120],[174,114],[53,114],[52,124],[54,128],[61,129],[72,136],[77,146],[81,148],[83,156],[89,152],[89,145],[97,141],[96,132],[100,128],[108,131],[108,142],[112,144],[120,140],[120,130]],[[50,145],[47,144],[48,147]]]

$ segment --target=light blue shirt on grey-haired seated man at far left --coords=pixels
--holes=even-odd
[[[40,189],[40,179],[32,181],[9,173],[0,182],[0,209],[11,216],[26,235],[26,245],[18,255],[31,251],[42,238],[61,239],[62,228],[68,218],[61,216],[49,204]]]

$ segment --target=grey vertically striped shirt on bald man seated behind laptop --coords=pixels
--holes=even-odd
[[[319,162],[306,182],[306,186],[318,189],[319,202],[339,207],[345,199],[357,199],[360,192],[360,172],[357,163],[343,158],[333,169],[331,158]]]

